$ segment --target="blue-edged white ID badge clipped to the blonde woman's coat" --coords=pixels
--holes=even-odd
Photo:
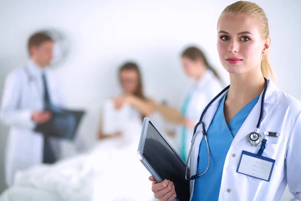
[[[236,172],[269,181],[275,160],[242,151]]]

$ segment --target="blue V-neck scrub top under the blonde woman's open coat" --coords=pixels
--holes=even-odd
[[[223,167],[226,155],[238,130],[258,102],[259,96],[255,97],[242,108],[227,124],[224,116],[224,103],[226,95],[222,98],[214,118],[208,128],[207,138],[210,150],[210,166],[205,174],[195,181],[193,201],[218,200],[222,181]],[[254,122],[255,124],[256,122]],[[198,170],[200,174],[207,168],[208,153],[205,140],[200,144],[198,157]]]

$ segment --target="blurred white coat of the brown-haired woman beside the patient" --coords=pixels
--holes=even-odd
[[[220,80],[214,75],[211,70],[206,70],[203,76],[189,89],[187,96],[191,95],[190,102],[188,103],[185,118],[195,121],[197,124],[201,117],[203,109],[221,90],[223,86]],[[182,127],[178,128],[178,142],[179,147],[182,141]],[[194,128],[186,129],[186,156],[188,156],[191,139],[193,136]]]

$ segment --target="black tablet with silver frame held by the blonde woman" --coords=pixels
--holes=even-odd
[[[186,163],[148,117],[143,120],[137,154],[158,182],[164,179],[173,181],[177,193],[175,200],[189,200],[189,181],[185,179]]]

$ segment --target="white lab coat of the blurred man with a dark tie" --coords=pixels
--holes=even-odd
[[[17,170],[23,170],[42,163],[43,135],[33,131],[36,124],[32,120],[34,111],[43,111],[44,88],[42,69],[33,61],[13,70],[7,76],[0,111],[1,120],[11,127],[6,146],[5,172],[7,184],[13,183]],[[62,106],[63,100],[55,74],[44,69],[51,103]],[[59,144],[54,139],[56,155],[59,157]]]

